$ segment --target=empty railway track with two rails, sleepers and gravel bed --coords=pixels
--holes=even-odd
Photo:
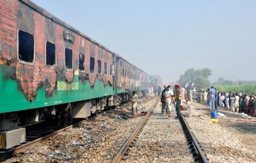
[[[157,105],[158,104],[158,105]],[[117,151],[116,162],[208,162],[183,118],[161,114],[157,101]]]

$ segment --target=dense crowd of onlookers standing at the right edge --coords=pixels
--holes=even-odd
[[[212,93],[212,89],[215,93]],[[213,97],[214,96],[214,97]],[[209,109],[218,109],[218,107],[226,108],[236,113],[248,114],[248,116],[256,116],[256,96],[254,94],[248,96],[243,92],[219,92],[216,88],[207,89],[206,91],[196,91],[196,101],[207,104]],[[214,107],[212,108],[212,98],[214,98]]]

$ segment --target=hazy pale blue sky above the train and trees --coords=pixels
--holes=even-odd
[[[33,2],[164,82],[205,67],[255,80],[255,0]]]

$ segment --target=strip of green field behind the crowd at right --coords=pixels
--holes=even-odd
[[[220,92],[244,92],[248,95],[252,93],[256,94],[256,84],[247,84],[247,85],[216,85],[214,86]]]

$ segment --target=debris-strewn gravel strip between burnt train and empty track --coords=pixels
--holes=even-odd
[[[156,98],[146,97],[139,100],[138,106],[145,108],[147,112]],[[109,162],[142,118],[132,118],[129,102],[89,118],[71,130],[50,137],[26,152],[5,160],[4,163]]]

